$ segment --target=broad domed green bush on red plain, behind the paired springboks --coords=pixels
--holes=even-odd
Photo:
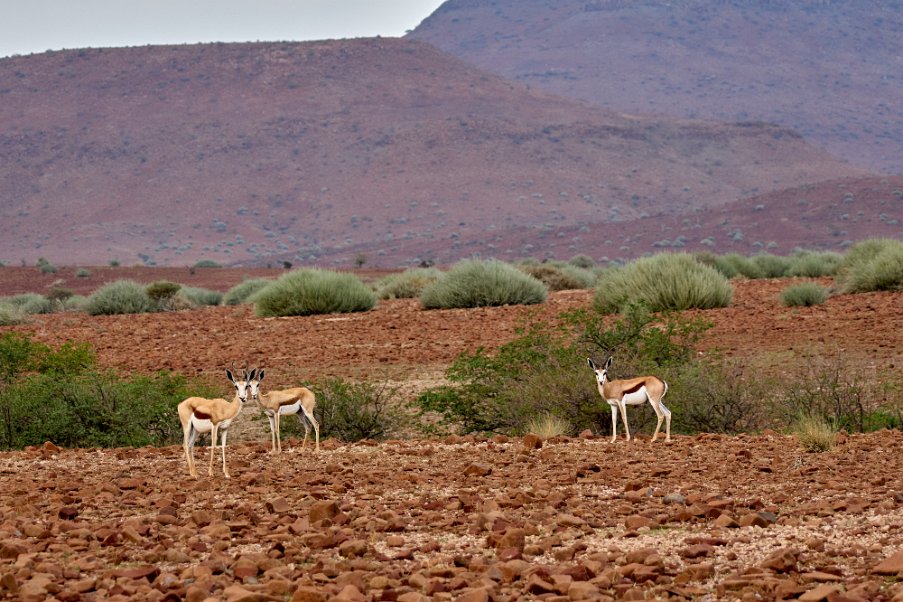
[[[368,311],[376,294],[353,274],[303,269],[289,272],[250,299],[261,317]]]

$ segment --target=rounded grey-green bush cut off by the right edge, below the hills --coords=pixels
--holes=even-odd
[[[903,242],[876,238],[853,245],[836,280],[844,293],[903,290]]]

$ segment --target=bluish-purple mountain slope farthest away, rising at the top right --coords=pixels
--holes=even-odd
[[[898,0],[448,0],[410,37],[610,109],[776,123],[903,173]]]

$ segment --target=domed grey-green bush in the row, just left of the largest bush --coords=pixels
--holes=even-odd
[[[460,261],[420,294],[426,309],[542,303],[546,286],[513,265],[489,260]]]

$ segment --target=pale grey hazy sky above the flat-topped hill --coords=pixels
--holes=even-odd
[[[0,57],[63,48],[398,37],[443,0],[0,0]]]

